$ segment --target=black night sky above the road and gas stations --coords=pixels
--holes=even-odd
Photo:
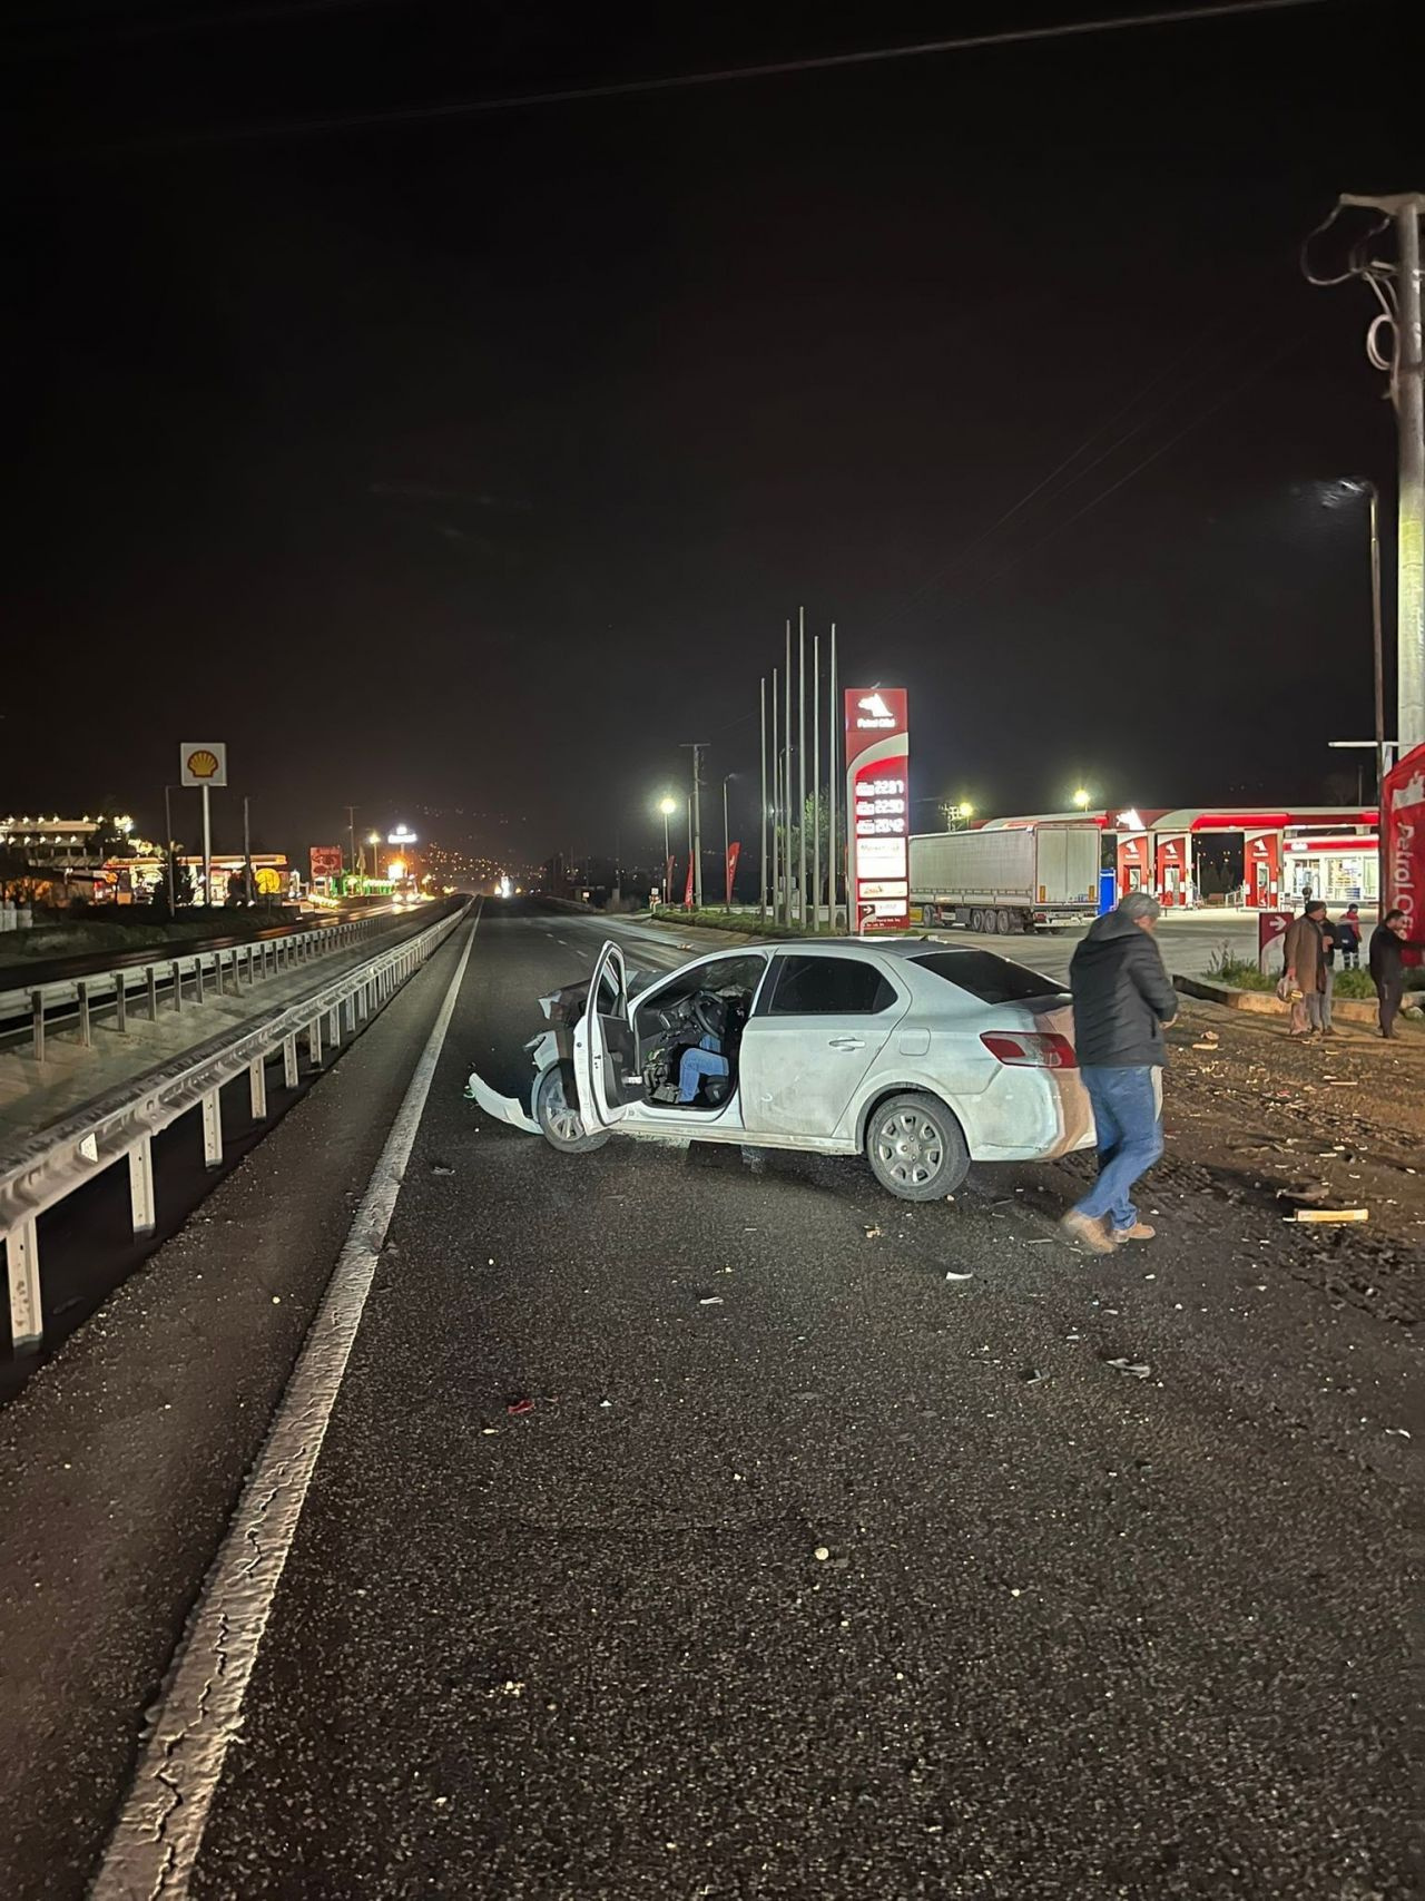
[[[11,10],[0,814],[218,738],[220,848],[631,857],[709,739],[750,836],[800,603],[916,797],[1355,797],[1395,430],[1296,251],[1425,184],[1408,0],[332,124],[1125,11]]]

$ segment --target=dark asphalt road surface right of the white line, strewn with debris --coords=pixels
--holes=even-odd
[[[1419,1893],[1406,1331],[1170,1169],[483,1120],[602,933],[486,911],[190,1891]]]

